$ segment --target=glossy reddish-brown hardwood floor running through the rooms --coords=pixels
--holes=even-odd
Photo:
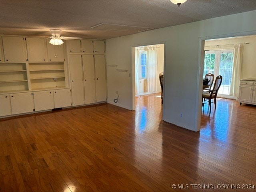
[[[1,119],[1,192],[256,184],[256,107],[218,100],[210,116],[208,106],[202,108],[201,131],[192,132],[161,120],[158,94],[136,102],[136,111],[99,104]]]

